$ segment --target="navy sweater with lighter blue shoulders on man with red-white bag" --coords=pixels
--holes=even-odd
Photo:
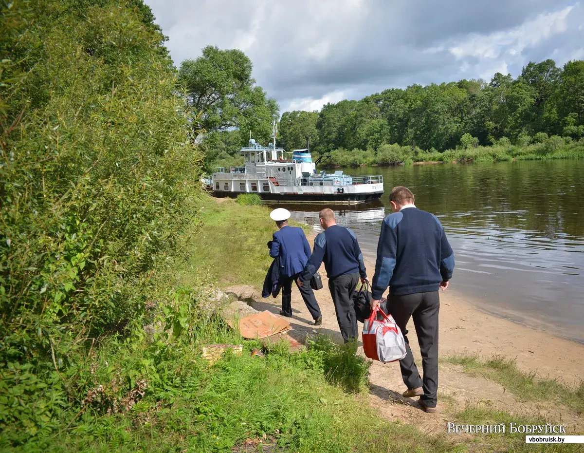
[[[373,299],[381,299],[387,286],[395,295],[437,291],[453,271],[454,253],[436,216],[406,208],[383,219],[371,284]]]

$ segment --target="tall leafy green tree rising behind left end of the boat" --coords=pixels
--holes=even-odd
[[[205,47],[199,58],[180,64],[179,83],[186,88],[193,131],[237,127],[251,130],[256,139],[269,139],[279,107],[255,85],[252,63],[241,50]]]

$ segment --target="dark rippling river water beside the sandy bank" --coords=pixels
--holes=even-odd
[[[405,185],[446,230],[456,258],[453,292],[487,312],[584,343],[584,160],[345,172],[384,177],[379,202],[329,206],[356,232],[364,254],[374,259],[391,188]],[[320,230],[324,205],[281,207]]]

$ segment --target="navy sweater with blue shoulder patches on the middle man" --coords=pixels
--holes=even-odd
[[[362,278],[367,278],[357,236],[347,227],[333,225],[314,238],[314,250],[300,274],[300,281],[310,280],[321,267],[322,261],[325,262],[328,278],[356,272]]]

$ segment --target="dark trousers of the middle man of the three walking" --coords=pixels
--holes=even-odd
[[[336,320],[339,323],[340,334],[345,343],[349,340],[357,340],[357,316],[353,304],[353,293],[359,283],[359,272],[355,274],[339,275],[329,279],[332,302],[335,305]]]

